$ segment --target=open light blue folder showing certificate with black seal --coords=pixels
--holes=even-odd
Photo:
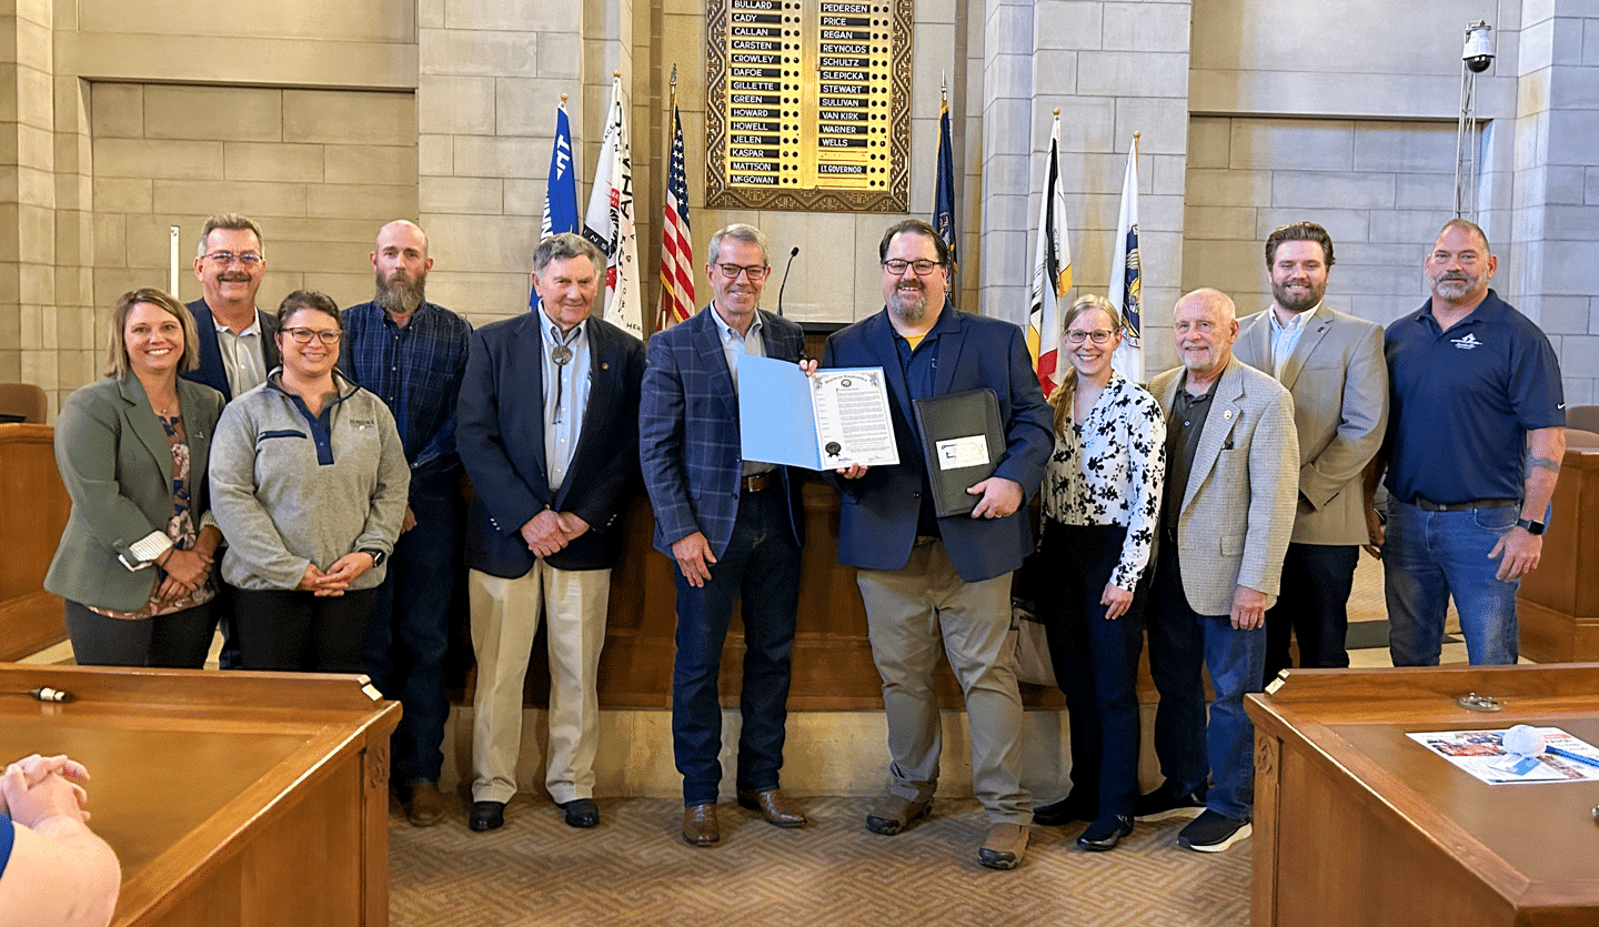
[[[806,470],[899,464],[883,368],[807,377],[790,361],[740,356],[739,436],[745,460]]]

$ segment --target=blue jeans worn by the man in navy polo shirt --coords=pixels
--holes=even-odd
[[[1516,590],[1521,580],[1498,579],[1500,561],[1489,558],[1489,551],[1516,526],[1519,513],[1513,505],[1425,511],[1406,502],[1390,502],[1383,580],[1388,654],[1394,666],[1438,665],[1450,596],[1460,614],[1471,663],[1516,662]]]

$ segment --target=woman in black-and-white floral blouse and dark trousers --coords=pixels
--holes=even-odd
[[[1154,396],[1111,369],[1121,315],[1110,300],[1076,300],[1060,340],[1071,371],[1049,398],[1038,606],[1071,718],[1071,793],[1033,820],[1091,822],[1078,845],[1110,850],[1132,831],[1138,796],[1138,652],[1166,420]]]

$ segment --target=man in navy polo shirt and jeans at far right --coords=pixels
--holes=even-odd
[[[1444,224],[1425,273],[1433,299],[1388,326],[1386,543],[1396,666],[1436,666],[1455,598],[1471,663],[1514,663],[1516,588],[1538,566],[1565,454],[1561,368],[1537,324],[1489,289],[1482,229]],[[1372,481],[1375,487],[1375,478]]]

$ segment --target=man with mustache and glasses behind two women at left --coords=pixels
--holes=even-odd
[[[185,379],[232,400],[283,363],[275,337],[278,320],[256,308],[265,272],[261,225],[237,213],[206,219],[195,253],[201,299],[189,304],[200,366],[182,374]]]

